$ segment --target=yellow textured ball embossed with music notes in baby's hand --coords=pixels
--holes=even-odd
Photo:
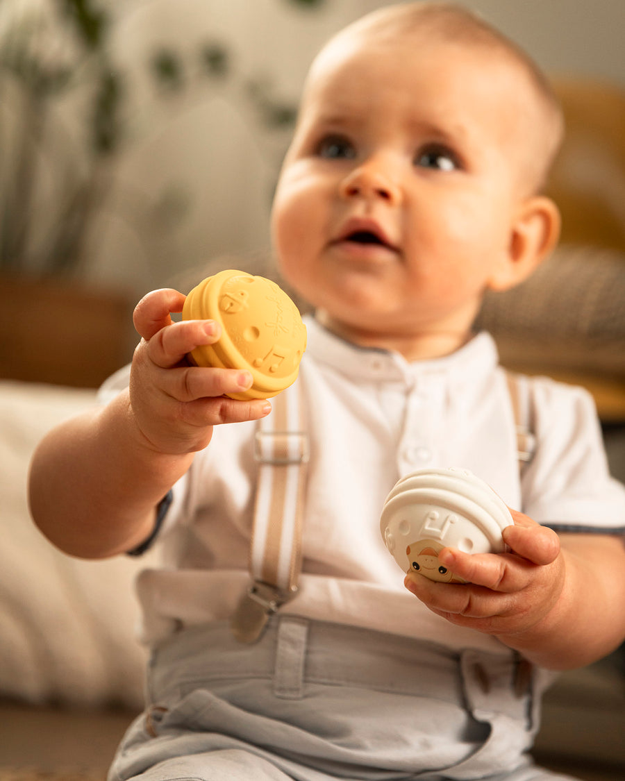
[[[306,327],[291,298],[264,276],[227,269],[207,277],[187,295],[185,320],[216,320],[215,344],[191,352],[196,366],[247,369],[254,381],[230,398],[270,398],[295,382],[306,348]]]

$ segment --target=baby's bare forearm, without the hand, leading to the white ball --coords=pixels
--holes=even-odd
[[[548,669],[595,662],[625,639],[625,545],[617,537],[563,535],[565,585],[554,608],[522,633],[499,635]]]

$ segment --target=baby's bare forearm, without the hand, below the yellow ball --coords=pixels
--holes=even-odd
[[[30,509],[62,551],[105,558],[131,550],[153,529],[155,509],[191,464],[143,440],[127,392],[42,440],[30,467]]]

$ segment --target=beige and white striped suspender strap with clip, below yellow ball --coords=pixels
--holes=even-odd
[[[273,398],[272,405],[255,436],[259,478],[250,545],[252,583],[232,619],[234,637],[244,643],[258,640],[270,615],[295,597],[302,568],[309,440],[301,383]]]

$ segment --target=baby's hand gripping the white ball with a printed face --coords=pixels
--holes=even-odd
[[[405,587],[431,611],[458,626],[493,635],[523,633],[552,610],[562,594],[564,560],[558,535],[523,513],[503,530],[503,554],[467,554],[452,547],[441,563],[467,583],[437,583],[418,572]]]

